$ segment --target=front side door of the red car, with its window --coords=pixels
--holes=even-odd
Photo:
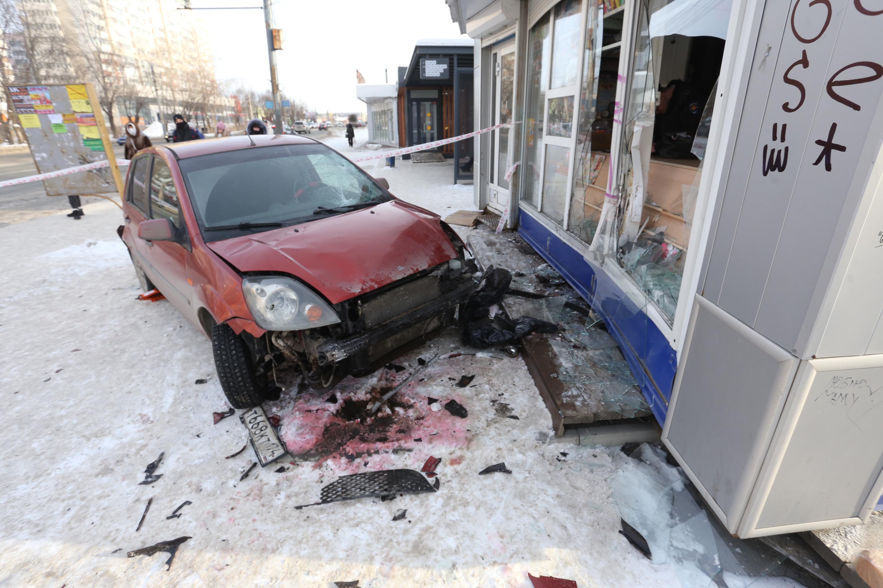
[[[192,248],[184,216],[181,215],[179,193],[181,191],[175,184],[169,164],[155,155],[148,184],[150,218],[169,219],[175,225],[176,239],[142,242],[147,245],[147,259],[157,275],[154,280],[156,287],[181,313],[192,318],[193,289],[187,282],[187,262]]]

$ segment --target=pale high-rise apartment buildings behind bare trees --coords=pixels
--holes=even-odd
[[[114,127],[175,112],[209,128],[236,119],[217,87],[208,28],[175,0],[5,1],[18,19],[2,33],[7,84],[90,81]]]

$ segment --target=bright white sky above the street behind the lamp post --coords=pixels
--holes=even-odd
[[[192,0],[193,8],[253,5],[261,0]],[[273,10],[285,32],[284,49],[276,51],[280,89],[319,112],[365,110],[356,98],[357,69],[366,83],[382,84],[388,68],[394,83],[419,39],[468,39],[444,0],[276,0]],[[217,79],[268,90],[263,11],[194,12],[208,25]]]

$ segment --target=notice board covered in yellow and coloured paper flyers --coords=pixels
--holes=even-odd
[[[37,172],[109,160],[109,167],[43,180],[48,196],[123,192],[107,126],[91,84],[10,86]]]

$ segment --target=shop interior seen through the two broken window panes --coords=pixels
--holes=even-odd
[[[569,222],[571,232],[592,242],[605,193],[622,186],[616,214],[605,221],[615,223],[609,227],[617,239],[611,254],[669,322],[690,246],[713,90],[721,71],[725,40],[713,35],[725,36],[728,24],[726,19],[721,23],[720,12],[698,22],[684,18],[683,4],[690,3],[641,3],[623,109],[616,108],[616,89],[625,5],[601,10],[600,40],[596,35],[586,47],[586,61],[593,58],[597,75],[584,107],[587,113],[593,107],[594,116],[577,139]],[[608,185],[610,149],[619,124],[624,130],[619,172]]]

